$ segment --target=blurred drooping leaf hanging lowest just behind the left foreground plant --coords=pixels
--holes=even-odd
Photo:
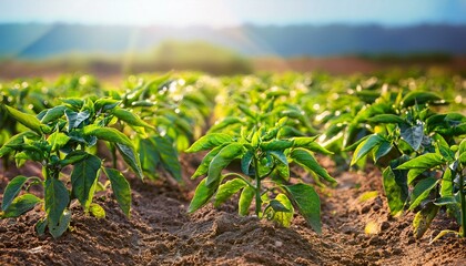
[[[154,142],[159,151],[163,167],[169,171],[178,182],[182,182],[183,177],[181,176],[181,164],[178,160],[178,152],[176,149],[174,149],[173,143],[161,136],[154,136],[151,141]]]

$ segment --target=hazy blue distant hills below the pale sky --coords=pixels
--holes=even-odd
[[[200,40],[244,55],[466,54],[466,25],[288,25],[210,29],[81,24],[0,24],[0,58],[148,52],[166,40]]]

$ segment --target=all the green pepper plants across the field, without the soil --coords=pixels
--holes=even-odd
[[[0,89],[4,167],[12,160],[42,166],[41,176],[11,180],[1,215],[17,217],[41,205],[39,234],[63,234],[72,203],[104,217],[93,196],[110,187],[130,216],[119,160],[140,178],[158,178],[164,168],[182,183],[179,153],[206,151],[192,176],[202,180],[189,213],[237,194],[240,215],[254,207],[259,218],[290,226],[298,212],[320,233],[315,187],[337,180],[317,153],[342,170],[378,166],[391,213],[416,213],[415,236],[440,212],[456,218],[459,231],[438,237],[465,236],[466,81],[459,76],[170,73],[130,76],[112,88],[69,75],[54,84],[21,80]],[[42,186],[44,197],[29,193],[31,186]]]

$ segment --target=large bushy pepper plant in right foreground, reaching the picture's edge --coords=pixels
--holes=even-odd
[[[456,139],[466,133],[466,117],[459,113],[435,114],[417,104],[404,114],[371,117],[368,123],[383,130],[348,147],[355,149],[352,164],[372,155],[383,167],[391,213],[415,211],[413,226],[417,238],[424,235],[443,205],[448,205],[448,211],[463,225],[459,206],[463,183],[455,183],[455,177],[452,180],[452,176],[462,175],[462,155],[459,152],[455,156],[456,151],[452,147],[456,146]],[[456,202],[447,201],[452,200],[453,193],[457,193]],[[439,200],[444,196],[447,197]]]

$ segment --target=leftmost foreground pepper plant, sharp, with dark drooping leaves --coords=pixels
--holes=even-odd
[[[37,116],[3,105],[3,111],[30,131],[11,137],[0,149],[0,157],[14,154],[19,166],[27,161],[38,162],[42,165],[42,177],[20,175],[11,180],[3,193],[1,217],[18,217],[37,204],[43,204],[45,215],[36,228],[38,234],[44,234],[48,228],[53,237],[59,237],[68,229],[73,200],[78,200],[85,213],[104,217],[104,209],[92,202],[95,191],[105,190],[107,186],[99,182],[101,171],[110,180],[121,209],[129,216],[131,191],[128,181],[120,171],[104,167],[103,160],[91,152],[98,140],[114,145],[142,178],[139,156],[132,142],[108,125],[114,120],[133,125],[143,125],[143,122],[119,109],[118,104],[110,99],[65,99],[62,105],[44,110]],[[68,175],[70,168],[71,175]],[[71,190],[67,187],[68,183],[71,183]],[[43,200],[29,193],[31,185],[43,187]],[[22,188],[27,193],[20,194]]]

